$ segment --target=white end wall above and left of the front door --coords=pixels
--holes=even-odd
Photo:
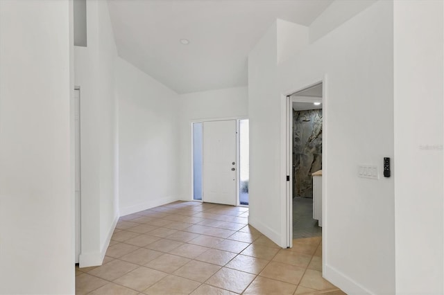
[[[248,118],[248,89],[234,87],[187,93],[179,96],[178,118],[180,133],[179,176],[182,200],[191,195],[191,122],[217,118]]]

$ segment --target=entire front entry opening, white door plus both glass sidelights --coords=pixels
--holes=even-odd
[[[191,195],[195,201],[248,206],[248,119],[191,123]]]

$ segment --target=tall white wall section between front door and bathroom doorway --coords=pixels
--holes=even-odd
[[[281,247],[287,247],[280,197],[280,96],[278,28],[273,24],[248,55],[250,182],[248,222]]]

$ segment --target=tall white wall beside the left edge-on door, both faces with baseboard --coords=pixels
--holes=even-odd
[[[80,267],[100,265],[118,218],[117,49],[106,1],[87,1],[87,47],[75,47],[80,87]]]

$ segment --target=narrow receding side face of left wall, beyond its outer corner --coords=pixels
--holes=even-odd
[[[100,195],[101,195],[101,247],[106,251],[115,222],[117,222],[119,192],[115,190],[115,182],[118,181],[117,158],[117,97],[114,87],[114,60],[117,56],[117,48],[112,32],[110,12],[106,1],[98,1],[98,71],[96,75],[96,95],[100,97]],[[99,134],[96,134],[99,135]]]

